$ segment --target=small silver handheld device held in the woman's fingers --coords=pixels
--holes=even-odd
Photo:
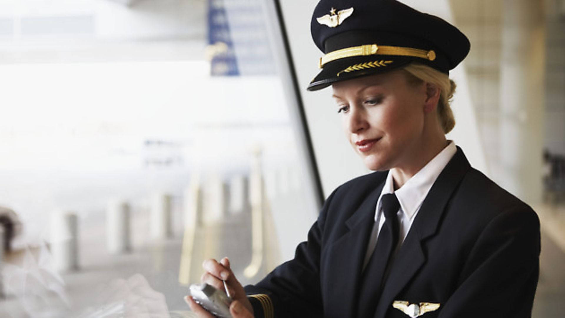
[[[229,305],[232,299],[223,290],[215,289],[214,286],[202,283],[202,285],[190,285],[190,295],[194,302],[205,310],[220,318],[232,318],[229,313]]]

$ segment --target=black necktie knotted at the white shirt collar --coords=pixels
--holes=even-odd
[[[379,231],[377,245],[367,267],[363,270],[359,284],[359,304],[357,317],[375,315],[377,303],[385,282],[387,265],[398,243],[398,218],[396,213],[400,204],[395,194],[381,197],[385,223]]]

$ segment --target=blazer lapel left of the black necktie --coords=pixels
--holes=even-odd
[[[352,317],[357,306],[357,291],[368,237],[375,224],[377,199],[384,180],[362,199],[359,208],[345,222],[349,229],[328,248],[324,260],[323,294],[327,317]],[[355,200],[352,200],[353,202]]]

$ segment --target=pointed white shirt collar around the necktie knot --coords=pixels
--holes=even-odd
[[[425,197],[428,195],[429,190],[432,188],[433,183],[436,182],[437,177],[440,175],[441,171],[444,170],[447,163],[451,160],[454,154],[457,152],[457,147],[453,140],[449,141],[447,147],[445,147],[440,153],[436,154],[418,173],[408,179],[408,181],[397,191],[394,191],[394,182],[392,178],[392,173],[388,173],[386,176],[386,181],[383,186],[383,190],[377,201],[377,210],[375,213],[375,220],[377,220],[377,215],[381,209],[381,198],[385,194],[394,193],[398,198],[400,203],[400,208],[402,212],[406,213],[409,220],[414,217],[416,211],[420,208]]]

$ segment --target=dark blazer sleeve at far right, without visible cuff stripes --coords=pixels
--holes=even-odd
[[[439,317],[531,317],[539,276],[540,222],[526,205],[494,217],[463,266]]]

